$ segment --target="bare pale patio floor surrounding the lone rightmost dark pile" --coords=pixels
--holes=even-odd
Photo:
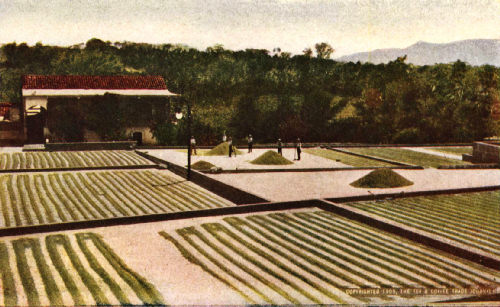
[[[288,172],[209,175],[270,201],[345,197],[380,193],[400,193],[459,189],[500,185],[500,170],[397,170],[414,182],[393,189],[362,189],[349,184],[368,174],[369,170],[335,172]]]

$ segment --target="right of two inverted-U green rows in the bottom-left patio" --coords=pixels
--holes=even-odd
[[[85,300],[83,299],[77,285],[73,281],[71,275],[66,269],[64,262],[61,259],[61,255],[57,250],[58,245],[62,245],[64,250],[66,251],[73,267],[78,272],[78,275],[82,279],[83,283],[89,289],[92,297],[94,298],[97,305],[109,305],[109,301],[107,300],[104,293],[101,291],[100,286],[97,282],[92,278],[92,276],[87,272],[83,264],[81,263],[78,255],[75,250],[71,246],[71,242],[66,235],[58,234],[58,235],[50,235],[45,238],[45,244],[47,245],[47,250],[49,252],[50,258],[52,259],[52,263],[56,267],[57,271],[61,275],[66,288],[71,293],[73,297],[73,301],[75,305],[85,305]],[[69,268],[70,270],[72,268]]]

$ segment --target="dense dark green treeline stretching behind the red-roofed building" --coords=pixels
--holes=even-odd
[[[215,143],[223,131],[324,142],[467,142],[498,135],[500,69],[451,64],[414,66],[338,63],[316,45],[303,55],[222,46],[110,43],[1,47],[1,99],[20,101],[23,74],[162,75],[168,88],[193,102],[194,131]],[[276,51],[276,50],[274,50]],[[152,122],[159,140],[179,142],[185,123]]]

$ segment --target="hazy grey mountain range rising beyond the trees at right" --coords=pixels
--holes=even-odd
[[[417,42],[407,48],[377,49],[335,59],[339,62],[388,63],[407,55],[407,63],[432,65],[456,60],[470,65],[490,64],[500,67],[500,39],[469,39],[447,44]]]

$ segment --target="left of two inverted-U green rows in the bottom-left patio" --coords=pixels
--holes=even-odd
[[[57,287],[54,277],[52,277],[52,273],[50,272],[47,262],[45,262],[45,256],[42,253],[40,241],[33,238],[22,238],[12,241],[12,245],[14,246],[14,252],[16,253],[19,275],[21,276],[23,287],[28,297],[28,304],[30,306],[40,305],[39,294],[36,291],[33,276],[31,275],[28,260],[26,258],[26,249],[30,248],[33,253],[33,257],[35,258],[38,272],[40,273],[45,286],[45,292],[49,298],[50,305],[63,305],[61,292]]]

